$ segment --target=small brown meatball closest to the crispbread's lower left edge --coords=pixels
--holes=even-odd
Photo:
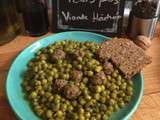
[[[107,75],[111,74],[112,71],[114,70],[113,69],[113,65],[110,62],[108,62],[108,61],[104,62],[103,69],[104,69],[105,74],[107,74]]]

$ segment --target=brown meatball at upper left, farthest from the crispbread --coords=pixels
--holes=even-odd
[[[53,55],[51,56],[51,60],[53,62],[57,61],[57,60],[61,60],[65,58],[65,52],[61,49],[56,49],[53,53]]]

